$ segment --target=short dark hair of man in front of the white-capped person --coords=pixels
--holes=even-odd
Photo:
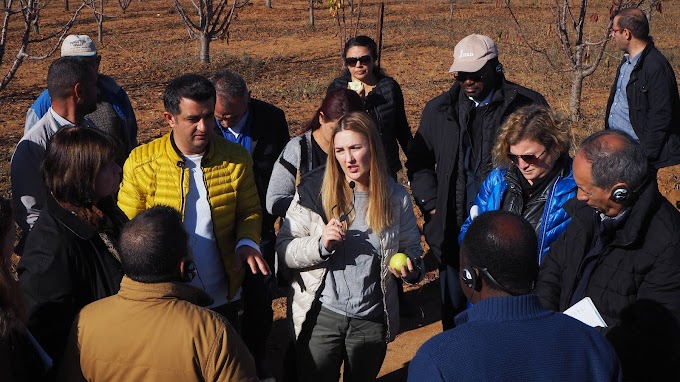
[[[52,99],[67,99],[77,83],[88,84],[94,71],[92,65],[77,57],[61,57],[47,71],[47,91]],[[96,77],[95,77],[96,78]]]

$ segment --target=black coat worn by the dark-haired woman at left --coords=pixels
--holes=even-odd
[[[109,218],[105,232],[117,242],[127,221],[112,198],[98,207]],[[118,293],[123,269],[99,233],[51,196],[28,234],[17,269],[28,329],[58,362],[71,323],[85,305]]]

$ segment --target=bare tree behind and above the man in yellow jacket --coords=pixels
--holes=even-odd
[[[198,38],[199,60],[210,62],[210,42],[212,40],[229,38],[229,27],[236,10],[243,8],[249,0],[233,0],[229,5],[228,0],[173,0],[184,25],[187,27],[189,37]],[[197,19],[193,21],[187,13],[183,3],[187,3],[196,11]],[[193,12],[192,12],[193,13]]]

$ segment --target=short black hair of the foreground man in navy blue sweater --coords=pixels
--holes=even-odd
[[[486,268],[499,284],[518,294],[529,293],[538,276],[536,232],[512,212],[490,211],[472,220],[460,254],[468,265]],[[488,280],[487,286],[497,289]]]

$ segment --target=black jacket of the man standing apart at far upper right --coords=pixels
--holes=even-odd
[[[605,128],[618,81],[621,65],[616,70],[614,85],[609,93]],[[666,57],[650,42],[640,53],[640,58],[626,85],[628,115],[642,150],[654,168],[680,163],[680,96],[673,67]]]

